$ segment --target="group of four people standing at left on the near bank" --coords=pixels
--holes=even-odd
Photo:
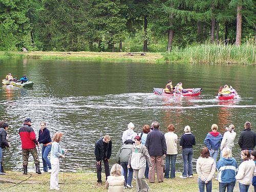
[[[51,139],[50,131],[46,128],[46,122],[40,123],[40,130],[38,133],[38,138],[36,139],[35,132],[32,128],[32,123],[30,118],[24,120],[23,125],[19,128],[19,136],[22,141],[22,156],[23,156],[23,174],[28,175],[28,162],[29,154],[33,156],[35,163],[35,172],[41,174],[40,171],[40,161],[38,158],[38,152],[36,146],[42,144],[42,164],[43,171],[45,173],[51,173],[50,178],[50,189],[60,190],[58,184],[58,175],[59,175],[59,159],[65,158],[65,153],[67,150],[62,150],[59,142],[63,137],[62,132],[56,132]],[[3,161],[3,149],[5,147],[11,147],[10,143],[7,142],[8,135],[7,130],[9,124],[0,121],[0,175],[5,175],[4,167],[2,165]],[[39,150],[39,148],[38,148]],[[51,160],[48,158],[49,153],[51,152]]]

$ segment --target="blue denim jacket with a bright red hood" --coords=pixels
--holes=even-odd
[[[218,150],[221,146],[222,138],[219,132],[209,132],[204,139],[204,144],[209,150]]]

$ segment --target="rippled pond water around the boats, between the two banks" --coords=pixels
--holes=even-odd
[[[223,127],[230,123],[236,126],[238,136],[234,141],[234,157],[239,159],[237,144],[245,121],[255,124],[255,69],[252,67],[197,66],[197,65],[147,65],[143,63],[95,63],[71,61],[41,61],[27,59],[1,61],[0,76],[12,72],[15,76],[26,74],[34,81],[32,89],[2,87],[0,89],[0,120],[10,125],[9,140],[15,147],[13,156],[5,165],[15,170],[22,167],[22,150],[18,136],[19,126],[26,117],[31,117],[38,136],[40,121],[46,121],[51,136],[56,131],[64,133],[61,141],[69,153],[65,164],[69,171],[78,167],[95,170],[94,144],[105,134],[113,141],[111,164],[121,145],[121,135],[127,124],[135,124],[140,133],[144,124],[159,121],[160,130],[167,132],[173,123],[178,138],[185,125],[191,127],[196,137],[195,162],[200,155],[203,141],[212,123]],[[222,70],[234,75],[226,76]],[[254,71],[253,71],[254,70]],[[200,97],[162,97],[154,95],[153,87],[164,87],[172,72],[173,82],[184,79],[189,87],[203,87]],[[154,74],[154,78],[152,78]],[[196,78],[195,78],[196,76]],[[215,77],[213,81],[211,77]],[[222,77],[224,79],[220,80]],[[244,78],[246,77],[246,78]],[[235,84],[241,99],[219,102],[216,99],[218,85],[222,81]],[[246,92],[243,84],[248,84]],[[6,151],[9,158],[11,152]],[[178,148],[177,170],[182,170],[181,147]],[[60,164],[61,165],[61,164]],[[196,164],[194,163],[194,166]],[[31,166],[32,167],[32,166]]]

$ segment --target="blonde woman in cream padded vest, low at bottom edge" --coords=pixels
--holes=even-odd
[[[121,166],[116,163],[111,168],[105,187],[108,192],[123,192],[123,185],[124,177],[121,175]]]

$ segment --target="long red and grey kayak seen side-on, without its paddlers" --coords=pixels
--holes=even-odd
[[[167,94],[164,92],[164,89],[163,88],[153,88],[153,92],[156,94],[156,95],[163,95],[163,96],[167,96],[167,97],[173,97],[173,96],[178,96],[180,97],[181,95],[183,97],[196,97],[196,96],[199,96],[201,91],[203,91],[202,88],[193,88],[193,89],[184,89],[184,91],[186,91],[187,93],[176,93],[175,95],[174,94]]]

